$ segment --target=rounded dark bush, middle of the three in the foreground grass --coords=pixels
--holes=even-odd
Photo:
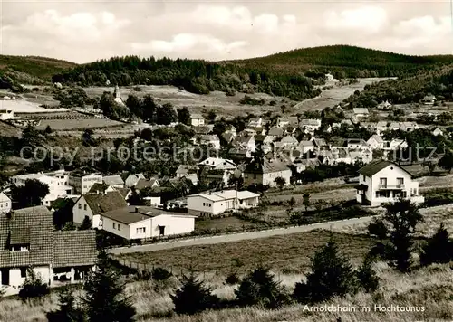
[[[241,281],[235,290],[237,302],[241,306],[260,305],[265,308],[279,308],[288,297],[280,282],[275,281],[269,269],[258,267]]]

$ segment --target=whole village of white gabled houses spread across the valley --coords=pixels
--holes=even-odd
[[[119,87],[113,94],[115,102],[124,106]],[[341,178],[342,184],[336,185],[355,189],[349,201],[365,208],[400,198],[423,204],[419,182],[404,166],[435,168],[438,162],[440,168],[453,166],[439,161],[446,155],[445,145],[443,151],[434,147],[436,153],[425,154],[422,159],[415,159],[411,153],[408,158],[408,149],[414,146],[408,135],[438,137],[439,145],[448,140],[451,128],[444,120],[449,114],[439,105],[429,95],[409,114],[388,101],[372,110],[349,109],[339,102],[332,108],[298,115],[247,117],[242,128],[223,117],[220,127],[212,113],[190,113],[186,123],[194,135],[184,149],[202,147],[208,152],[197,162],[183,159],[170,175],[102,173],[90,167],[68,171],[63,166],[49,172],[12,174],[0,194],[1,285],[14,293],[24,283],[30,266],[50,285],[82,280],[94,270],[96,235],[100,231],[114,236],[111,247],[202,236],[207,228],[225,233],[236,232],[235,228],[241,231],[241,227],[245,231],[247,225],[247,230],[253,231],[262,226],[248,223],[251,219],[266,222],[269,217],[263,213],[269,206],[273,206],[269,208],[273,214],[286,210],[283,220],[280,218],[274,226],[294,224],[288,220],[288,209],[297,210],[297,204],[299,209],[304,205],[305,211],[329,209],[319,200],[310,202],[308,190],[300,190],[324,180]],[[438,112],[433,112],[436,109]],[[105,118],[99,110],[93,113],[91,118]],[[30,115],[18,115],[14,116],[13,110],[0,110],[2,122],[22,128],[39,126],[45,119],[45,113],[34,113],[32,120]],[[131,126],[136,124],[134,121]],[[178,131],[178,124],[171,122],[165,128]],[[141,125],[147,127],[160,128]],[[125,133],[130,130],[119,137]],[[139,135],[133,139],[133,146],[145,147],[147,142]],[[323,175],[319,169],[323,169]],[[23,203],[14,200],[14,189],[24,194],[25,187],[36,182],[47,186],[48,193],[38,198],[40,204],[18,208]],[[334,190],[336,185],[324,189]],[[284,203],[268,200],[269,196],[278,199],[285,195],[288,198]],[[223,221],[236,227],[225,229]]]

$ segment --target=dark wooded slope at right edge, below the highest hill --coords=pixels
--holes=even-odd
[[[453,100],[453,65],[366,85],[363,91],[354,93],[345,102],[350,103],[350,108],[374,107],[385,100],[392,104],[419,102],[428,94],[439,100]]]

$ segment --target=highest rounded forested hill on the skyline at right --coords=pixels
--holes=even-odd
[[[398,77],[453,62],[451,55],[410,56],[367,48],[333,45],[296,49],[273,55],[232,61],[246,68],[317,77],[327,71],[337,78]]]

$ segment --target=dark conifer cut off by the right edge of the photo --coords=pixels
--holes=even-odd
[[[420,253],[420,264],[427,266],[432,263],[448,263],[453,259],[453,242],[450,241],[444,223],[440,224],[438,231],[429,239]]]

